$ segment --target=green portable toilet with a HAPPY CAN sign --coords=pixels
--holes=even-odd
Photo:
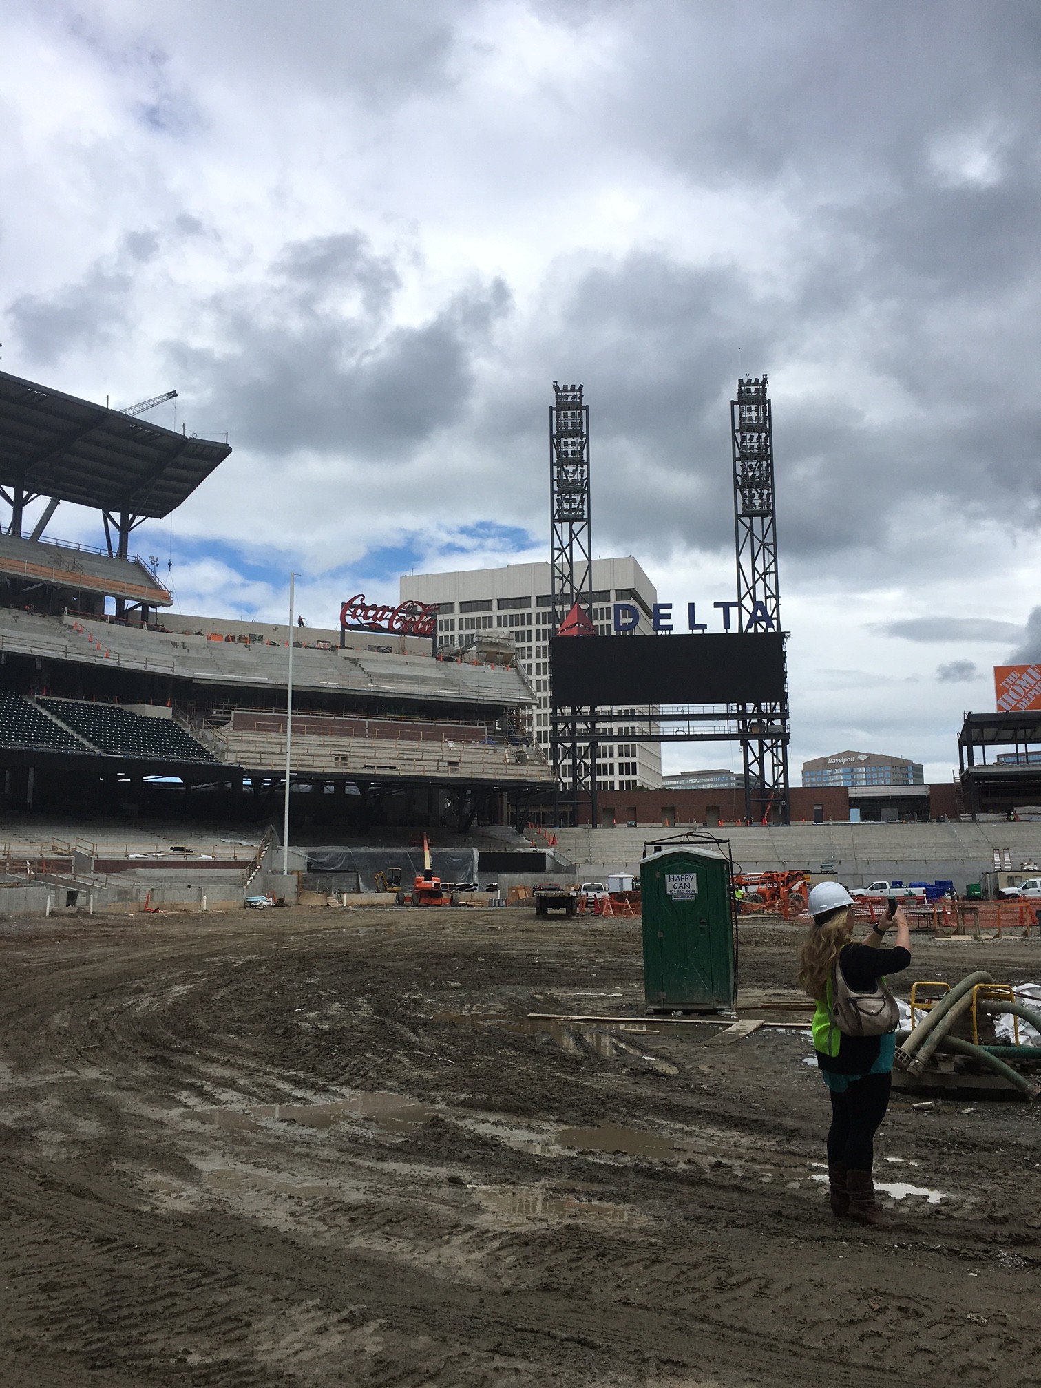
[[[737,998],[730,859],[712,843],[677,844],[640,863],[644,994],[652,1012],[720,1012]]]

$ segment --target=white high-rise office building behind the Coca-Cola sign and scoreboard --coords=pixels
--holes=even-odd
[[[451,573],[409,573],[400,580],[401,601],[436,602],[440,645],[455,645],[471,633],[500,632],[516,647],[520,668],[532,682],[539,704],[534,736],[550,750],[550,637],[552,636],[552,594],[548,564],[508,564],[502,569],[457,569]],[[600,636],[613,632],[615,602],[627,602],[638,612],[633,634],[654,630],[658,593],[632,555],[623,559],[593,561],[591,618]],[[618,709],[620,716],[637,709]],[[645,719],[647,711],[640,711]],[[645,726],[645,723],[644,723]],[[620,729],[619,729],[620,731]],[[633,727],[636,733],[636,727]],[[566,775],[568,768],[562,768]],[[662,755],[658,743],[618,740],[601,743],[597,756],[597,784],[601,790],[657,790],[662,783]]]

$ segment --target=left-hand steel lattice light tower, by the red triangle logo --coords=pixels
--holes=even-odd
[[[593,539],[590,530],[589,405],[582,386],[552,383],[550,405],[550,570],[552,633],[577,602],[591,616]],[[570,790],[565,798],[577,805],[587,788],[595,813],[595,744],[579,741],[577,720],[566,726],[550,704],[550,755],[559,786],[562,754],[570,752]],[[576,712],[576,711],[572,711]],[[593,711],[590,709],[590,713]],[[558,820],[558,812],[554,813]]]

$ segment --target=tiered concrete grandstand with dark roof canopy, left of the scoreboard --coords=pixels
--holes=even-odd
[[[523,820],[552,773],[507,652],[439,659],[403,634],[169,612],[129,554],[230,450],[0,373],[0,772],[8,813],[271,818],[285,791],[293,641],[294,815],[366,826]],[[25,536],[33,501],[47,500]],[[43,537],[61,500],[108,552]],[[300,793],[300,794],[297,794]]]

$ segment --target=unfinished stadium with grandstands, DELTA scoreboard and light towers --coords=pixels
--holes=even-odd
[[[0,373],[0,497],[10,507],[0,533],[0,791],[8,816],[271,822],[286,787],[291,650],[297,824],[465,833],[482,823],[522,827],[529,818],[594,826],[851,819],[852,801],[840,806],[834,795],[788,788],[766,378],[738,382],[731,405],[738,597],[722,605],[737,609],[734,630],[659,636],[655,616],[654,652],[594,626],[602,594],[591,589],[589,411],[582,387],[555,391],[552,622],[540,638],[557,677],[536,682],[508,630],[475,629],[439,647],[436,607],[415,600],[379,608],[357,594],[326,629],[174,613],[155,561],[133,555],[130,539],[204,484],[230,454],[228,441]],[[62,502],[99,512],[104,548],[47,537]],[[473,619],[475,627],[479,620],[490,626],[491,618]],[[666,654],[662,665],[657,657]],[[632,723],[633,704],[643,713],[629,730],[641,738],[737,741],[743,793],[672,793],[666,804],[634,786],[601,804],[598,744],[619,736],[622,715]],[[548,747],[534,731],[537,708],[552,711]],[[942,795],[942,787],[917,787],[922,804],[905,790],[888,818],[1041,804],[1041,768],[1027,747],[1040,736],[1033,716],[969,715],[960,779]],[[1016,751],[987,765],[994,743]]]

